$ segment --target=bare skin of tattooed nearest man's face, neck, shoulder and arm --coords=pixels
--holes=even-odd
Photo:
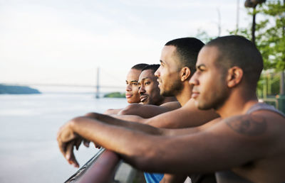
[[[214,89],[212,79],[219,75],[219,68],[212,65],[216,58],[212,54],[217,50],[206,48],[199,53],[197,65],[207,68],[196,72],[190,81],[195,85],[197,106],[208,105],[204,103],[204,92],[209,93],[207,87]],[[209,55],[212,56],[207,58]],[[257,104],[257,97],[242,76],[241,69],[232,67],[225,80],[219,81],[229,87],[227,100],[216,109],[222,118],[201,131],[190,128],[185,134],[115,118],[103,121],[105,116],[78,117],[58,132],[61,153],[65,157],[71,154],[67,160],[76,163],[68,146],[86,139],[118,153],[125,162],[144,171],[190,174],[232,170],[252,182],[284,182],[285,118],[266,110],[247,114]]]

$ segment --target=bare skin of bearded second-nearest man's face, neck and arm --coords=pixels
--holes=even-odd
[[[158,128],[187,128],[200,126],[214,118],[219,117],[214,110],[210,109],[207,111],[202,111],[197,109],[195,106],[195,101],[190,100],[192,95],[192,85],[189,83],[191,71],[189,67],[181,67],[178,64],[180,63],[179,60],[180,57],[177,55],[175,46],[165,46],[162,49],[160,67],[155,72],[155,76],[158,78],[157,81],[160,83],[160,91],[165,91],[175,95],[177,101],[179,101],[182,106],[181,108],[171,108],[171,110],[167,109],[169,111],[165,113],[165,108],[170,105],[177,105],[173,104],[173,102],[168,102],[166,104],[162,104],[156,110],[147,110],[147,112],[145,112],[145,110],[140,110],[140,112],[143,111],[143,113],[150,113],[150,111],[152,111],[152,113],[155,111],[161,111],[161,114],[156,113],[156,115],[152,118],[145,118],[140,115],[130,115],[130,113],[121,113],[124,115],[114,117],[126,121],[145,123]],[[181,84],[180,90],[173,89],[173,86],[177,83]]]

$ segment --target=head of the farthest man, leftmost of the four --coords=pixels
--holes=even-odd
[[[127,79],[125,82],[127,86],[125,87],[125,98],[127,98],[128,103],[140,103],[140,94],[138,93],[138,77],[142,69],[147,66],[147,64],[134,65],[127,74]]]

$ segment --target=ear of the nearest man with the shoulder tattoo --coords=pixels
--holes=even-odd
[[[237,86],[242,81],[244,72],[239,67],[232,67],[227,71],[227,87],[232,88]]]

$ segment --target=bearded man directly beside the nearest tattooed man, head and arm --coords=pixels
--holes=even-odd
[[[182,106],[180,109],[162,113],[152,118],[126,115],[128,113],[124,113],[124,111],[119,113],[123,116],[115,117],[159,128],[199,126],[217,118],[218,115],[213,110],[198,110],[194,100],[190,100],[192,86],[189,80],[195,72],[197,55],[203,45],[204,43],[196,38],[178,38],[167,42],[162,49],[160,67],[155,72],[158,77],[160,94],[162,96],[176,96],[177,101]]]

